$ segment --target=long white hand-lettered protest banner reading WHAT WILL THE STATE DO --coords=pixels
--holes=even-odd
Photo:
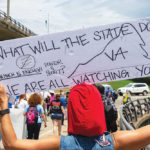
[[[20,95],[150,76],[150,19],[0,42],[0,82]]]

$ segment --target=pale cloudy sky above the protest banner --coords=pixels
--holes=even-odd
[[[10,0],[10,16],[38,35],[145,18],[149,8],[150,0]]]

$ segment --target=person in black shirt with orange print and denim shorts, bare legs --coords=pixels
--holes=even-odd
[[[60,101],[60,95],[56,94],[56,99],[50,104],[51,119],[53,122],[53,133],[56,135],[58,126],[58,135],[61,135],[62,113],[65,114],[63,104]]]

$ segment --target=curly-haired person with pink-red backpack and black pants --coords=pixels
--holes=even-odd
[[[28,100],[29,106],[26,107],[24,112],[27,119],[28,139],[39,138],[42,119],[45,123],[45,127],[47,127],[44,110],[41,105],[42,100],[43,99],[38,93],[32,94]]]

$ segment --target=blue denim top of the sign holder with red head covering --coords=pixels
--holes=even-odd
[[[107,146],[101,146],[96,142],[102,141],[103,135],[85,137],[80,135],[61,136],[60,150],[114,150],[114,144],[111,135],[105,133],[105,138],[110,142]]]

